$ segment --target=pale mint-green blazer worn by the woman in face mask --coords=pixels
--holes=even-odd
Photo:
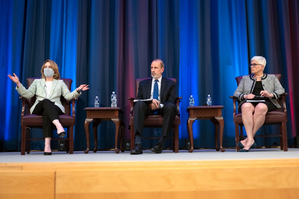
[[[44,99],[49,99],[50,101],[55,102],[55,105],[57,105],[62,110],[62,112],[65,113],[65,109],[60,101],[60,96],[62,95],[66,100],[71,100],[72,98],[77,98],[81,95],[81,91],[80,93],[78,93],[76,90],[74,90],[73,92],[69,91],[67,85],[63,82],[63,80],[53,79],[50,95],[48,98],[46,98],[46,93],[44,90],[45,85],[45,79],[35,79],[28,90],[22,84],[19,88],[16,87],[16,90],[19,92],[19,94],[25,98],[32,98],[34,95],[36,95],[36,101],[30,108],[30,114],[32,114],[36,104]]]

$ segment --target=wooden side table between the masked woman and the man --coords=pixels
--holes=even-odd
[[[84,123],[86,144],[87,149],[84,153],[89,152],[89,124],[92,122],[93,133],[94,133],[94,149],[93,152],[97,152],[97,127],[102,121],[112,120],[115,123],[115,153],[119,153],[117,148],[118,143],[118,132],[120,129],[120,151],[124,152],[123,149],[123,134],[125,131],[125,123],[120,120],[119,115],[123,114],[123,111],[119,107],[100,107],[100,108],[85,108],[86,119]],[[121,117],[122,118],[122,117]]]

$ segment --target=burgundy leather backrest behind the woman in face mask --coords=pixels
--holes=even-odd
[[[30,87],[30,85],[33,83],[33,81],[35,79],[41,79],[40,77],[30,77],[27,78],[27,84],[28,84],[28,88]],[[64,83],[66,84],[66,86],[68,87],[68,90],[71,90],[71,85],[73,80],[68,79],[68,78],[60,78],[64,81]],[[30,108],[33,106],[34,102],[36,101],[36,96],[34,95],[32,98],[27,99],[28,104],[27,104],[27,115],[30,115]],[[60,97],[60,101],[62,106],[65,108],[65,115],[71,115],[71,105],[70,105],[70,101],[66,100],[62,95]]]

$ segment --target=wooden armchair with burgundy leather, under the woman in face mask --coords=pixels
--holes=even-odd
[[[40,78],[27,78],[28,87],[32,84],[35,79]],[[67,78],[60,78],[67,85],[68,89],[71,90],[72,80]],[[30,153],[30,140],[42,140],[44,138],[30,138],[30,129],[39,128],[42,129],[42,115],[30,115],[30,108],[33,106],[36,96],[32,98],[20,97],[22,100],[22,114],[21,114],[21,126],[22,126],[22,135],[21,135],[21,155],[25,155],[25,145],[27,144],[27,154]],[[59,115],[60,123],[62,127],[67,128],[67,137],[66,138],[52,138],[52,140],[67,140],[66,152],[73,154],[74,146],[74,125],[75,125],[75,100],[73,98],[71,101],[66,100],[63,96],[60,97],[60,101],[65,108],[65,115]],[[72,109],[71,109],[72,104]],[[72,115],[71,115],[72,111]]]

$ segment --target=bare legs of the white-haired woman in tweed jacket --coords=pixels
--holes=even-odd
[[[254,135],[264,124],[265,116],[268,111],[266,104],[244,103],[242,104],[242,121],[246,130],[247,138],[242,140],[243,149],[248,150],[254,144]]]

